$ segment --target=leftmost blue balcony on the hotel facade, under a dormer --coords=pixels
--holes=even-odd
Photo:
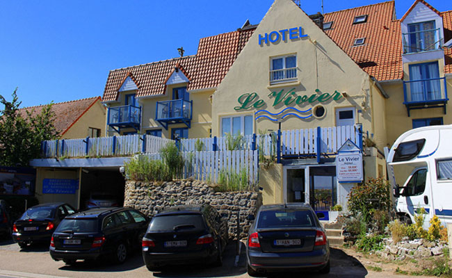
[[[125,105],[108,108],[107,124],[118,133],[121,129],[140,129],[141,107]]]

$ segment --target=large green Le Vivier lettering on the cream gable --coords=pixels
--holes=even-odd
[[[312,104],[315,101],[318,102],[325,102],[330,99],[333,99],[334,101],[338,101],[342,98],[342,95],[340,92],[334,91],[333,93],[324,92],[323,94],[319,94],[320,90],[316,89],[316,93],[312,95],[297,95],[295,92],[295,88],[288,90],[285,92],[284,89],[280,90],[279,92],[271,92],[268,97],[273,99],[273,103],[271,106],[277,106],[278,104],[283,104],[285,106],[290,106],[293,104],[301,105],[305,102]],[[236,111],[241,109],[249,109],[249,108],[261,108],[262,106],[265,106],[267,103],[264,101],[264,99],[259,99],[259,95],[257,95],[257,92],[247,92],[239,97],[237,99],[239,102],[239,106],[235,106],[234,109]]]

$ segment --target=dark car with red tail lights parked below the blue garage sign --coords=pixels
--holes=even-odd
[[[27,209],[13,224],[13,240],[24,248],[35,242],[50,242],[58,224],[76,210],[70,204],[38,204]]]

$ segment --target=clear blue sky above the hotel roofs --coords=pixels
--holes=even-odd
[[[324,0],[324,12],[381,1]],[[414,0],[396,1],[401,18]],[[273,0],[3,1],[0,95],[22,106],[102,96],[109,70],[196,54],[200,38],[257,24]],[[439,11],[450,1],[428,1]],[[301,1],[309,15],[321,0]]]

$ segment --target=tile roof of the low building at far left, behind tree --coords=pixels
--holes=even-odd
[[[79,118],[88,111],[96,101],[101,101],[101,97],[90,97],[87,99],[78,99],[72,101],[59,102],[51,107],[51,110],[55,112],[55,127],[62,136]],[[32,113],[32,115],[38,115],[41,113],[44,105],[30,106],[19,109],[19,113],[22,117],[26,117],[26,111]]]

